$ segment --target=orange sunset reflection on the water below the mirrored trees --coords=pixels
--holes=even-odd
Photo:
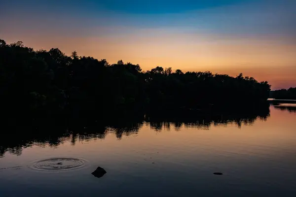
[[[257,119],[251,125],[235,123],[210,124],[209,126],[186,126],[176,129],[173,124],[163,125],[161,130],[151,129],[145,123],[138,132],[123,134],[121,139],[110,132],[104,139],[78,140],[73,145],[71,137],[56,148],[26,148],[26,158],[36,157],[100,157],[116,162],[118,158],[133,160],[170,157],[176,160],[190,160],[192,155],[205,158],[219,156],[283,157],[293,150],[296,141],[296,113],[270,107],[266,121]]]

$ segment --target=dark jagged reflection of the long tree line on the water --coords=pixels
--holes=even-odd
[[[293,109],[295,110],[295,108]],[[147,114],[145,118],[132,118],[132,121],[129,117],[114,118],[110,123],[100,120],[91,122],[74,120],[64,126],[54,126],[60,124],[53,124],[50,121],[42,122],[39,126],[15,127],[5,133],[2,132],[0,157],[3,157],[7,151],[10,154],[21,155],[22,150],[27,147],[50,146],[55,148],[66,142],[75,145],[77,141],[104,139],[108,134],[114,134],[117,139],[121,139],[122,136],[137,134],[144,125],[157,132],[169,131],[172,128],[177,131],[181,131],[182,128],[209,130],[211,127],[226,127],[229,124],[240,128],[252,125],[256,120],[265,121],[268,117],[269,107],[251,112],[244,111],[244,113],[219,113],[199,116],[156,113]]]

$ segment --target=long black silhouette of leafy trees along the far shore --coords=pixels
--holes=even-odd
[[[270,85],[253,77],[175,72],[157,66],[109,64],[105,59],[34,50],[0,39],[0,105],[6,117],[77,117],[123,111],[213,111],[261,103]]]

